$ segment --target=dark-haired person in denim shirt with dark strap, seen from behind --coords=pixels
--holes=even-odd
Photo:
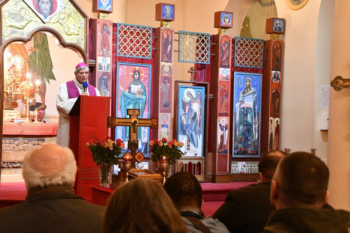
[[[208,232],[228,233],[219,220],[204,218],[201,210],[202,187],[197,178],[188,172],[177,172],[169,177],[164,189],[173,200],[190,233]]]

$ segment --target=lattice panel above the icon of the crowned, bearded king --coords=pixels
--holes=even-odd
[[[262,68],[264,40],[235,37],[235,66]]]

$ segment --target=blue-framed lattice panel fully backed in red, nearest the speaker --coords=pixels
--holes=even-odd
[[[117,56],[152,58],[152,27],[117,24]]]

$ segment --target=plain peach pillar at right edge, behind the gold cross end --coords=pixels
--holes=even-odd
[[[350,20],[350,2],[335,0],[334,33],[330,80],[340,75],[350,78],[350,30],[344,22]],[[330,81],[329,80],[329,81]],[[328,167],[330,168],[329,204],[336,209],[350,210],[350,90],[330,90]]]

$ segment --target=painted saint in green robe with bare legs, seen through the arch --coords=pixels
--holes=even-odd
[[[34,45],[29,49],[31,53],[25,62],[28,62],[29,70],[32,73],[33,83],[40,81],[40,97],[41,102],[39,106],[36,106],[36,100],[33,100],[29,105],[36,106],[36,109],[45,109],[45,94],[46,94],[46,81],[50,84],[50,80],[56,80],[54,73],[52,72],[53,65],[51,61],[51,55],[49,50],[49,43],[47,35],[45,33],[37,33],[34,35]]]

